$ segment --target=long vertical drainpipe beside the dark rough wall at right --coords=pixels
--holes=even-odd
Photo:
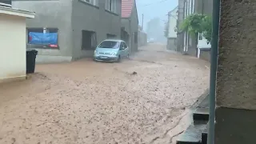
[[[218,66],[218,28],[219,28],[220,0],[213,3],[213,29],[210,50],[210,117],[207,144],[214,144],[215,126],[215,94],[216,94],[216,74]]]

